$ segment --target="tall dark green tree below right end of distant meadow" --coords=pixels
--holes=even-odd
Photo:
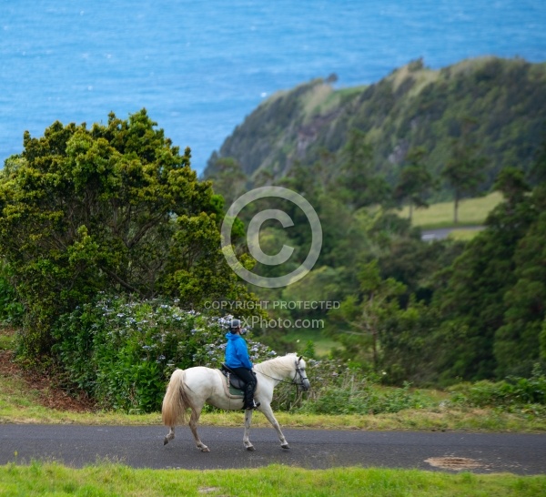
[[[498,184],[506,185],[509,177],[506,172],[500,175]],[[496,342],[506,320],[507,292],[518,282],[515,254],[537,219],[537,206],[543,204],[539,197],[514,194],[513,188],[505,191],[511,197],[491,211],[486,228],[468,242],[450,268],[447,286],[434,296],[443,321],[440,330],[448,340],[440,347],[438,363],[444,380],[484,380],[500,371],[502,351]],[[519,299],[519,308],[529,303],[528,289]],[[512,317],[514,322],[519,319],[516,313]],[[502,340],[512,338],[510,331]]]

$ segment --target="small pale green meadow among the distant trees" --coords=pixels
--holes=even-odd
[[[440,202],[432,204],[430,208],[418,208],[413,210],[412,225],[420,228],[452,228],[456,226],[480,226],[487,218],[490,211],[502,200],[499,192],[494,192],[487,197],[467,198],[459,204],[459,223],[453,222],[453,202]],[[401,218],[408,218],[409,208],[399,211]]]

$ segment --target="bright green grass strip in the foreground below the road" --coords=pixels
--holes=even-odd
[[[270,465],[247,470],[147,470],[108,462],[82,469],[56,462],[0,466],[0,495],[539,496],[546,476]]]

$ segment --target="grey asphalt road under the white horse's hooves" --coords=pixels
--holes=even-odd
[[[284,430],[280,448],[271,428],[250,431],[256,451],[243,447],[243,428],[200,427],[210,452],[198,451],[185,426],[163,445],[167,428],[0,424],[0,464],[57,461],[82,467],[98,461],[135,468],[256,468],[281,463],[308,469],[339,466],[439,469],[449,458],[471,472],[546,473],[546,435],[410,431]],[[470,467],[458,466],[470,461]],[[434,462],[434,461],[432,461]]]

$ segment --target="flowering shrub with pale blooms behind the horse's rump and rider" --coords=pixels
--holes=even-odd
[[[104,298],[58,320],[54,352],[66,384],[86,391],[100,406],[158,411],[173,370],[220,366],[229,320],[162,300]],[[275,355],[247,341],[251,360]]]

